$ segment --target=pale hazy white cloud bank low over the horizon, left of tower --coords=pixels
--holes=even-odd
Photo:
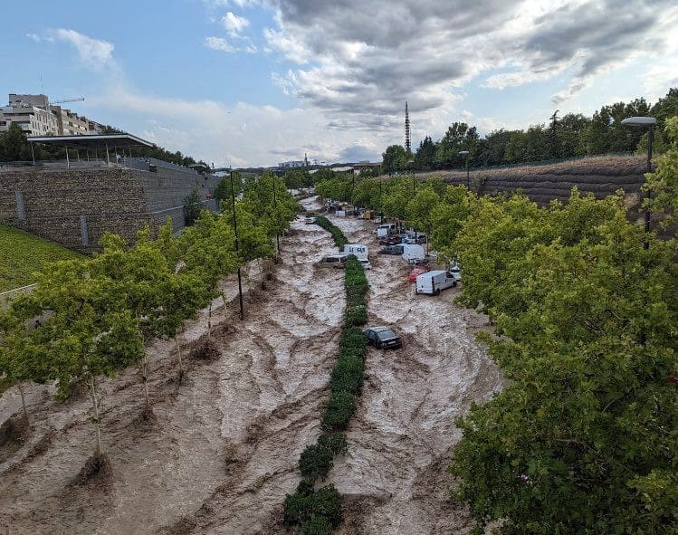
[[[275,165],[303,159],[304,153],[327,161],[366,159],[394,142],[365,130],[322,135],[328,119],[319,110],[281,110],[244,102],[227,108],[216,100],[151,97],[124,84],[111,84],[88,100],[100,110],[100,120],[113,117],[120,128],[217,166],[228,165],[228,160],[234,166]]]

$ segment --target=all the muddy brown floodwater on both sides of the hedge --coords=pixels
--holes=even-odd
[[[315,198],[303,204],[318,207]],[[463,533],[470,521],[446,502],[452,482],[445,468],[459,439],[454,416],[501,387],[497,368],[473,341],[486,320],[451,304],[454,291],[415,296],[404,263],[377,255],[368,224],[333,220],[372,250],[370,322],[392,324],[405,339],[404,349],[368,352],[349,454],[336,459],[328,478],[350,506],[340,530]],[[343,272],[313,265],[334,252],[328,233],[295,221],[265,290],[259,263],[244,271],[244,321],[235,279],[225,280],[226,303],[215,300],[212,318],[220,357],[186,356],[205,339],[202,310],[179,338],[181,385],[174,340],[148,348],[155,421],[139,419],[137,368],[101,380],[110,460],[104,476],[78,479],[93,449],[86,393],[59,404],[53,387],[26,387],[30,433],[0,444],[0,528],[11,526],[12,535],[284,532],[282,501],[299,482],[301,450],[320,434],[337,354]],[[10,388],[0,398],[0,423],[20,411]]]

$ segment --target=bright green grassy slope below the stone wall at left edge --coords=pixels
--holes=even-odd
[[[0,291],[32,284],[35,282],[33,272],[42,271],[47,263],[72,258],[82,258],[82,255],[0,224]]]

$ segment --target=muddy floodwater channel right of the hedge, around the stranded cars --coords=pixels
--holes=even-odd
[[[458,289],[415,295],[406,263],[378,254],[368,225],[331,219],[350,242],[370,248],[369,325],[394,327],[404,342],[396,351],[368,349],[349,454],[329,473],[358,511],[346,532],[468,532],[468,511],[448,500],[454,481],[446,468],[461,437],[454,418],[501,388],[499,369],[474,341],[487,319],[452,302]]]

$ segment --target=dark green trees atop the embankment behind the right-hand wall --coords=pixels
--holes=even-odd
[[[666,119],[678,114],[678,88],[672,88],[654,105],[645,99],[616,102],[603,106],[592,117],[581,113],[554,115],[549,124],[530,125],[524,130],[494,130],[481,138],[476,127],[455,122],[442,139],[426,136],[415,153],[392,145],[383,154],[382,168],[387,173],[463,167],[469,151],[470,167],[499,166],[557,158],[573,158],[645,149],[645,129],[632,129],[622,119],[652,116],[657,119],[654,149],[663,152],[668,146],[664,134]],[[412,162],[412,163],[410,163]]]

